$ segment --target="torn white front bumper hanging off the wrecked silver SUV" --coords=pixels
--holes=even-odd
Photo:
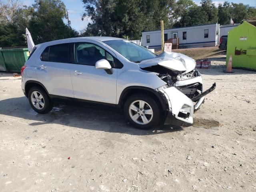
[[[178,120],[192,124],[194,111],[198,110],[200,105],[204,102],[204,96],[212,92],[215,88],[216,84],[214,83],[211,88],[192,99],[188,98],[175,87],[166,88],[160,90],[160,92],[164,94],[168,102],[170,114]],[[195,105],[194,102],[196,102]]]

